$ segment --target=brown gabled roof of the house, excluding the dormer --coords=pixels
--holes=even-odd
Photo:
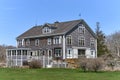
[[[91,28],[86,24],[86,22],[81,20],[73,20],[73,21],[66,21],[66,22],[57,22],[54,24],[45,24],[50,27],[56,27],[56,29],[48,34],[43,34],[42,29],[45,25],[41,26],[34,26],[28,31],[24,32],[20,36],[17,37],[17,39],[24,39],[24,38],[35,38],[35,37],[46,37],[46,36],[53,36],[53,35],[64,35],[70,30],[72,30],[75,26],[77,26],[79,23],[83,23],[87,26],[87,28],[90,30],[92,35],[95,37],[94,32],[91,30]]]

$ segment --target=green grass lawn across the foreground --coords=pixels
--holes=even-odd
[[[0,80],[120,80],[120,72],[82,72],[76,69],[0,69]]]

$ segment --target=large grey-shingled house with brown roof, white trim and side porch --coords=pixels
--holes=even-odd
[[[45,67],[55,60],[97,57],[96,35],[83,19],[34,26],[16,40],[17,48],[6,51],[7,66],[40,59]]]

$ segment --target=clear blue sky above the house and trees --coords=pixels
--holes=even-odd
[[[93,31],[100,22],[105,35],[120,31],[120,0],[0,0],[0,44],[16,46],[16,37],[36,24],[77,19]]]

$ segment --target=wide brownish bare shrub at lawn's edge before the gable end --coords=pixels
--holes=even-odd
[[[102,68],[103,61],[100,58],[95,59],[80,59],[80,68],[85,71],[95,71],[97,72]]]

